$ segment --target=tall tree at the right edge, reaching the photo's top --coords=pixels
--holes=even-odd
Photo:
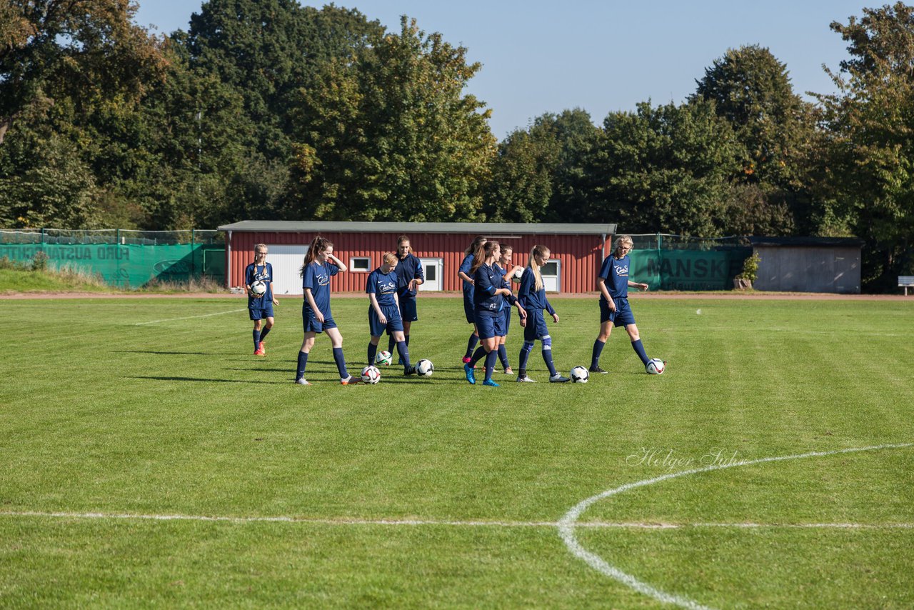
[[[866,240],[863,287],[887,290],[914,272],[914,7],[865,8],[834,22],[850,59],[830,72],[838,92],[819,96],[829,129],[826,178]]]

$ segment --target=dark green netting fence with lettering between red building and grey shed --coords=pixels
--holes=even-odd
[[[651,290],[730,290],[752,255],[744,237],[696,238],[652,233],[632,235],[632,272]]]

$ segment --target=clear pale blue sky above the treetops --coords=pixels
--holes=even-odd
[[[648,99],[683,102],[728,48],[759,44],[787,65],[793,90],[833,92],[822,69],[847,58],[828,25],[861,16],[860,0],[339,0],[389,30],[399,16],[441,32],[483,69],[468,92],[491,108],[501,140],[544,112],[583,108],[594,123]],[[324,3],[302,3],[317,6]],[[139,0],[137,23],[187,29],[199,0]]]

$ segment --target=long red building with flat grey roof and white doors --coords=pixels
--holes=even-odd
[[[270,248],[275,294],[302,294],[298,275],[314,236],[334,244],[334,254],[351,273],[336,275],[335,292],[363,292],[367,273],[380,265],[386,251],[395,251],[400,235],[409,237],[422,260],[423,291],[459,291],[457,270],[463,251],[477,235],[514,247],[515,264],[526,265],[530,249],[543,244],[552,261],[543,268],[547,290],[588,293],[596,290],[596,273],[611,251],[614,224],[521,224],[479,222],[308,222],[244,220],[218,228],[226,231],[228,286],[244,285],[244,269],[254,261],[254,244]]]

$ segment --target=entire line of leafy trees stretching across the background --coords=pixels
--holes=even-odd
[[[617,222],[857,236],[864,288],[914,272],[914,8],[830,25],[836,93],[728,49],[682,103],[544,113],[498,142],[466,49],[403,17],[207,0],[154,36],[131,0],[0,0],[0,226],[239,219]]]

